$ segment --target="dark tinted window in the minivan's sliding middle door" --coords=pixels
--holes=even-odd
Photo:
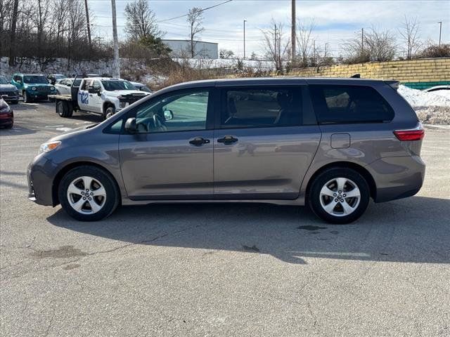
[[[224,94],[221,128],[299,126],[299,88],[229,89]]]

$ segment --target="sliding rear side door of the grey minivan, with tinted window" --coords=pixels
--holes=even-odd
[[[296,199],[321,132],[306,86],[221,88],[215,199]]]

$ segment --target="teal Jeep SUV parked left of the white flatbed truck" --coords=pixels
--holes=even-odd
[[[11,84],[18,88],[24,103],[47,100],[49,95],[58,93],[42,74],[14,74]]]

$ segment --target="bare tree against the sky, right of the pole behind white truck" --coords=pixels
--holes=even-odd
[[[162,32],[158,29],[155,13],[148,6],[146,0],[136,0],[125,6],[125,18],[127,26],[125,32],[129,39],[140,40],[149,37],[162,37]]]

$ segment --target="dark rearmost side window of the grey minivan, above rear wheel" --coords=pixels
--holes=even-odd
[[[311,100],[319,124],[380,123],[394,110],[370,86],[311,85]]]

